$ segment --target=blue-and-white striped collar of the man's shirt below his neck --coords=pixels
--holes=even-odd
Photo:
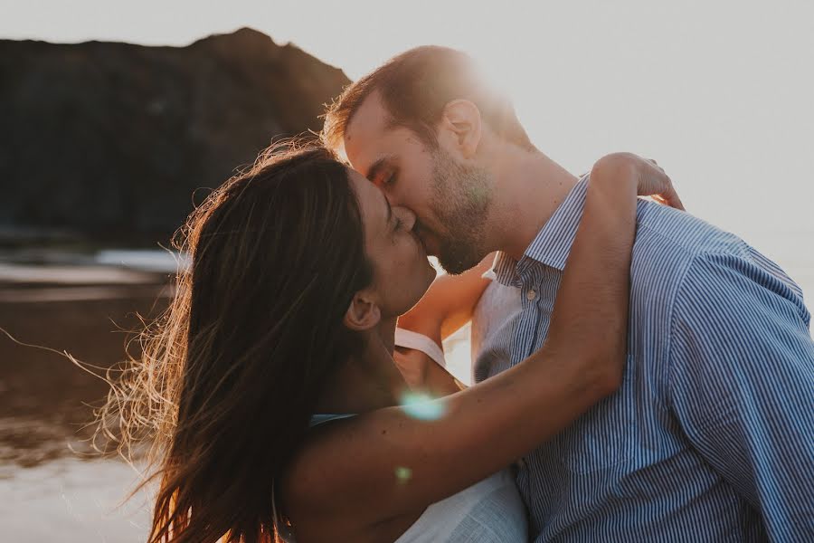
[[[521,275],[535,262],[551,266],[559,271],[565,269],[573,238],[580,219],[582,219],[587,189],[588,176],[583,176],[540,229],[534,241],[525,249],[520,262],[516,262],[505,252],[497,252],[493,267],[497,281],[508,286],[519,287]]]

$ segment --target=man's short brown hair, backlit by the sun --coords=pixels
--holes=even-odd
[[[438,147],[436,127],[444,107],[464,99],[478,106],[484,123],[499,137],[534,149],[511,102],[489,88],[469,55],[436,45],[402,52],[348,85],[325,115],[321,138],[328,148],[342,147],[347,125],[374,91],[390,114],[390,127],[411,129],[431,148]]]

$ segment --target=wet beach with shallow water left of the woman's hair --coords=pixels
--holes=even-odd
[[[0,263],[0,539],[144,541],[139,475],[89,443],[108,385],[63,356],[101,368],[125,358],[145,319],[166,308],[166,273]],[[131,354],[137,345],[130,346]],[[121,507],[119,507],[121,506]]]

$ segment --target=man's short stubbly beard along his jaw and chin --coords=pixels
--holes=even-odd
[[[460,164],[449,153],[433,153],[431,209],[444,232],[439,238],[438,262],[457,275],[485,256],[485,233],[492,193],[483,168]]]

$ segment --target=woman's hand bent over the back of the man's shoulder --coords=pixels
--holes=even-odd
[[[655,160],[648,160],[633,153],[611,153],[601,157],[593,165],[591,178],[634,179],[639,196],[651,196],[660,204],[684,211],[673,182]],[[617,181],[618,182],[618,181]]]

